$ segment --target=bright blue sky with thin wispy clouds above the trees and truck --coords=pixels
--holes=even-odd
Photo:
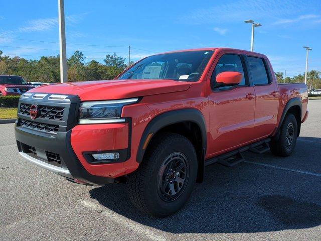
[[[1,2],[0,37],[5,38],[0,38],[0,50],[4,54],[39,59],[59,53],[56,0]],[[101,62],[113,52],[127,58],[128,49],[121,46],[128,45],[134,61],[178,49],[248,50],[251,26],[243,21],[253,19],[262,24],[255,29],[254,51],[266,54],[274,71],[286,70],[287,76],[303,73],[303,46],[313,49],[309,69],[321,70],[319,0],[65,0],[65,16],[67,55],[80,50],[86,61]]]

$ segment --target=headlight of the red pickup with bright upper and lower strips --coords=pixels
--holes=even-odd
[[[79,124],[125,122],[125,118],[120,118],[122,106],[137,101],[138,98],[82,102],[79,109]]]

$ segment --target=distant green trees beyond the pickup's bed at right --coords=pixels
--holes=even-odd
[[[317,70],[311,70],[306,75],[306,85],[308,90],[321,89],[321,72]],[[282,72],[275,73],[277,82],[279,83],[304,83],[304,73],[298,74],[293,77],[285,77]],[[284,78],[285,77],[285,78]]]

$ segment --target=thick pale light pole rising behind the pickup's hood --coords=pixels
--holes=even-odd
[[[60,82],[68,82],[67,77],[67,57],[66,57],[66,34],[65,34],[65,11],[64,0],[58,0],[58,20],[59,20],[59,54],[60,54]]]

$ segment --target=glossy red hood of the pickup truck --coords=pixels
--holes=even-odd
[[[28,92],[75,94],[81,100],[107,100],[185,91],[190,85],[190,82],[169,79],[116,79],[41,85]]]

